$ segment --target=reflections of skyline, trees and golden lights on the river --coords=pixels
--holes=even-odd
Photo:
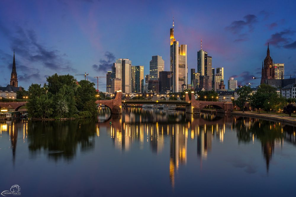
[[[31,155],[45,153],[48,159],[58,161],[75,159],[78,151],[93,150],[97,143],[95,139],[104,138],[107,134],[117,150],[131,152],[148,148],[154,155],[169,156],[166,172],[172,187],[175,187],[179,169],[192,162],[188,156],[189,147],[192,147],[190,141],[196,140],[193,143],[195,157],[202,163],[211,157],[212,152],[218,151],[214,143],[227,144],[229,135],[226,132],[236,132],[239,143],[261,143],[268,171],[274,149],[283,146],[284,141],[296,145],[291,128],[280,123],[224,114],[192,115],[181,111],[166,114],[164,110],[127,108],[123,109],[121,116],[112,115],[105,123],[97,123],[96,120],[3,121],[0,136],[9,136],[14,159],[17,142],[24,141],[28,143]]]

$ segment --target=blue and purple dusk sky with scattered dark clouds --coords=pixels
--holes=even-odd
[[[151,56],[170,65],[170,28],[187,44],[187,64],[197,69],[197,51],[213,57],[238,84],[260,84],[267,43],[285,74],[296,74],[296,1],[102,1],[1,0],[0,85],[6,86],[15,50],[19,86],[43,84],[52,74],[106,76],[117,58],[144,65]],[[75,76],[78,81],[84,76]],[[288,76],[287,76],[288,77]],[[188,82],[190,83],[190,81]],[[99,79],[106,91],[106,79]]]

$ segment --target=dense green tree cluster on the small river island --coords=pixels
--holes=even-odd
[[[41,84],[28,88],[27,103],[30,118],[88,118],[96,114],[96,89],[94,83],[72,75],[54,74]]]

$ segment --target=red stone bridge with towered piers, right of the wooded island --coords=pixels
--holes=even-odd
[[[116,92],[113,100],[97,100],[96,104],[103,104],[110,108],[111,113],[121,114],[122,102],[125,104],[164,104],[164,105],[185,105],[186,113],[200,113],[200,110],[206,106],[213,106],[217,113],[231,113],[233,110],[232,103],[216,102],[216,101],[200,101],[195,100],[194,92],[191,92],[191,100],[189,100],[188,92],[186,92],[185,101],[167,101],[167,100],[121,100],[121,91]]]

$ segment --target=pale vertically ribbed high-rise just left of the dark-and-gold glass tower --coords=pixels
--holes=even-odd
[[[123,59],[122,60],[122,92],[131,93],[131,60]]]

